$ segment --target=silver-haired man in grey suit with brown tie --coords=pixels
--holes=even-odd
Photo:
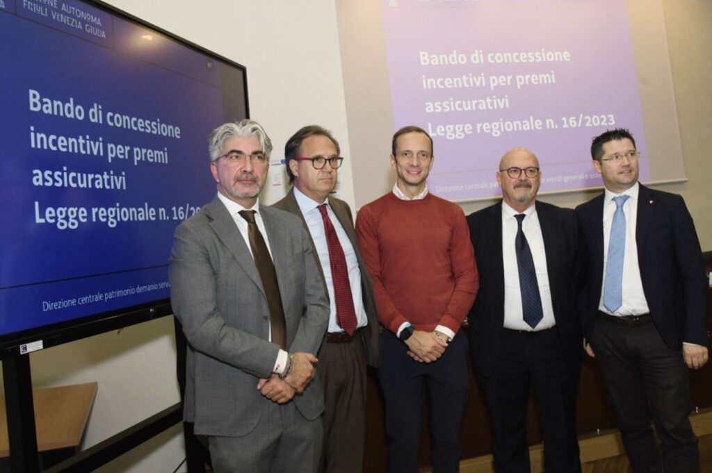
[[[185,420],[215,472],[313,472],[324,403],[310,384],[329,304],[298,218],[260,206],[260,124],[210,135],[217,196],[174,235],[171,302],[188,340]]]

